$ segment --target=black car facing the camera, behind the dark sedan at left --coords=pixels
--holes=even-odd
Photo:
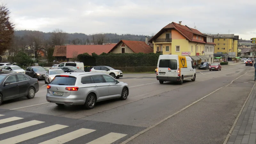
[[[28,67],[26,69],[26,75],[37,78],[37,79],[44,79],[44,76],[46,74],[46,70],[43,67],[37,66],[37,67]]]

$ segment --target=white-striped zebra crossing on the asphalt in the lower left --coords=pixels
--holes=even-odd
[[[24,128],[29,128],[29,127],[33,127],[33,126],[36,126],[39,124],[44,124],[46,122],[39,121],[39,120],[30,120],[27,122],[13,124],[10,126],[3,126],[3,124],[7,124],[10,122],[13,123],[15,121],[24,119],[22,117],[16,117],[16,116],[1,119],[1,117],[3,117],[3,116],[5,116],[5,115],[0,114],[0,144],[16,144],[16,143],[22,143],[22,142],[27,143],[26,140],[36,139],[37,137],[44,136],[47,134],[52,135],[52,132],[63,130],[65,128],[69,127],[68,125],[63,125],[63,124],[53,124],[53,125],[43,127],[43,128],[31,131],[31,132],[26,132],[26,133],[22,133],[20,135],[15,135],[10,138],[4,138],[4,137],[2,137],[2,135],[6,134],[8,132],[19,131]],[[123,133],[109,132],[109,133],[97,138],[97,130],[87,129],[87,128],[78,128],[77,130],[65,133],[63,135],[57,136],[52,139],[44,139],[44,141],[42,141],[42,142],[39,140],[40,142],[36,142],[36,143],[39,143],[39,144],[63,144],[63,143],[67,143],[67,142],[77,143],[77,142],[72,142],[72,140],[75,140],[75,139],[81,138],[81,137],[86,138],[86,135],[90,134],[90,133],[93,133],[93,136],[95,136],[95,138],[93,138],[92,141],[87,142],[87,144],[111,144],[111,143],[115,142],[116,140],[119,140],[119,139],[127,136],[127,134],[123,134]],[[45,137],[45,138],[47,138],[47,137]]]

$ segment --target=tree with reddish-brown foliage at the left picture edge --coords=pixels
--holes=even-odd
[[[10,13],[5,4],[0,4],[0,54],[12,45],[14,24],[10,21]]]

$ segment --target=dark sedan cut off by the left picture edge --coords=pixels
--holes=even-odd
[[[19,97],[33,99],[38,91],[39,83],[35,78],[20,73],[0,73],[0,105]]]

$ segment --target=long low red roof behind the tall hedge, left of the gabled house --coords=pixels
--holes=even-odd
[[[114,47],[114,44],[105,44],[105,45],[67,45],[67,58],[73,58],[73,53],[77,54],[88,53],[92,55],[93,52],[100,55],[105,52],[108,53]]]

